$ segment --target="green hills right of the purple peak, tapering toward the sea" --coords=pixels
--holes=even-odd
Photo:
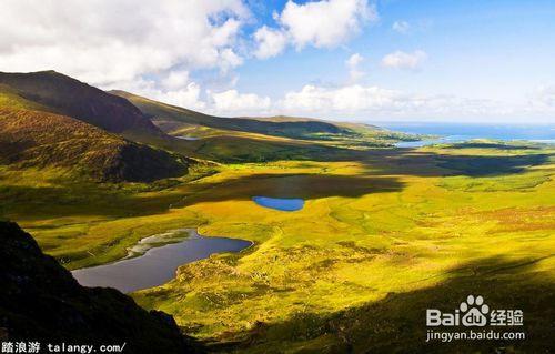
[[[420,136],[374,125],[332,123],[310,118],[222,118],[153,101],[124,91],[124,97],[165,133],[178,139],[130,135],[180,153],[221,162],[262,162],[280,159],[346,158],[354,150],[391,146]]]

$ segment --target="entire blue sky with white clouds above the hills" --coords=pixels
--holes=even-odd
[[[555,123],[552,0],[2,0],[0,71],[219,115]]]

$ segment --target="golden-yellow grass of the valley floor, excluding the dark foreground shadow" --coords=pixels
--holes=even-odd
[[[512,160],[533,154],[534,165]],[[300,315],[324,318],[382,303],[394,293],[438,286],[475,274],[468,264],[492,263],[487,260],[536,260],[531,269],[512,269],[511,276],[542,271],[544,280],[555,280],[549,259],[555,251],[552,155],[545,149],[426,148],[373,151],[343,162],[230,164],[162,190],[127,185],[121,194],[104,193],[118,198],[129,215],[103,210],[100,201],[74,215],[63,210],[41,218],[7,214],[69,267],[113,260],[143,236],[182,226],[254,241],[245,252],[183,265],[175,280],[133,294],[144,307],[174,315],[189,333],[225,342],[245,338],[261,324],[281,328],[289,323],[293,328],[305,321],[295,320]],[[496,156],[501,160],[491,160]],[[537,156],[546,158],[536,163]],[[505,172],[496,172],[497,165],[491,174],[465,172],[467,161],[481,159]],[[297,212],[280,212],[256,205],[253,195],[296,195],[306,204]],[[465,286],[455,290],[473,291]],[[268,348],[265,341],[283,343],[283,351],[317,350],[340,341],[286,333],[262,335],[260,351]]]

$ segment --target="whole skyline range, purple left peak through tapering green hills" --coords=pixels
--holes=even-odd
[[[0,107],[71,117],[137,143],[198,160],[329,161],[346,158],[352,149],[417,139],[373,125],[309,118],[221,118],[124,91],[111,93],[54,71],[0,73]]]

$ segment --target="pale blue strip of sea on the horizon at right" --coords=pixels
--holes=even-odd
[[[455,143],[473,139],[527,140],[541,143],[555,143],[553,124],[460,124],[460,123],[383,123],[390,130],[413,134],[440,135],[441,139],[420,142],[400,142],[397,148],[420,148],[434,143]]]

